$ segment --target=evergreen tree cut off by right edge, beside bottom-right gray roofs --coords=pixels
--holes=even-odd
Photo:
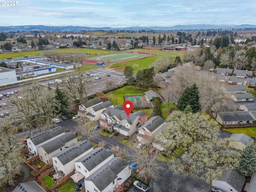
[[[240,160],[239,172],[243,176],[250,176],[254,171],[256,171],[256,148],[252,142],[250,145],[247,145],[242,150],[242,157]]]

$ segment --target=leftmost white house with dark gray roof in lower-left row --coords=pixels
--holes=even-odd
[[[46,144],[47,142],[54,140],[64,134],[65,131],[63,130],[63,128],[61,126],[58,126],[49,131],[45,131],[35,136],[32,136],[27,139],[28,150],[30,151],[30,153],[37,155],[39,146]]]

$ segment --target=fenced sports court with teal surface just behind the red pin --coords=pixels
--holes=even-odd
[[[134,110],[152,109],[152,104],[147,101],[145,95],[124,96],[124,101],[131,101]]]

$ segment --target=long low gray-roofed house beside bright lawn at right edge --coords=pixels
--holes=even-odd
[[[254,118],[247,111],[228,111],[218,112],[216,121],[224,127],[231,127],[232,125],[237,124],[252,124]]]

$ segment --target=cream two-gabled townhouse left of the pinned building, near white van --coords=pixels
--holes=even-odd
[[[91,121],[96,121],[100,119],[100,115],[108,107],[114,107],[114,104],[111,101],[103,102],[100,98],[96,98],[80,105],[78,114],[86,116]]]

